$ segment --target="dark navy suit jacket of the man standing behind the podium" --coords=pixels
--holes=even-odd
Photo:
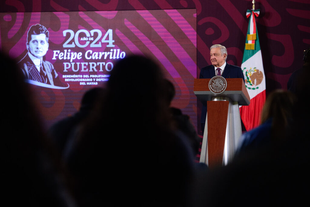
[[[213,78],[215,75],[215,69],[213,65],[209,65],[201,68],[199,78]],[[242,78],[244,82],[244,75],[241,67],[230,65],[226,62],[222,76],[224,78]],[[206,123],[207,116],[207,104],[202,106],[201,110],[201,123]]]

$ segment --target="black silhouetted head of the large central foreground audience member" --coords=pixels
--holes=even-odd
[[[107,89],[110,107],[127,116],[153,119],[168,108],[161,68],[150,58],[132,55],[117,62]]]

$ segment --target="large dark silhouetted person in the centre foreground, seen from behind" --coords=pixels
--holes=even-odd
[[[160,67],[113,67],[107,94],[67,157],[82,206],[190,206],[193,153],[172,128]]]

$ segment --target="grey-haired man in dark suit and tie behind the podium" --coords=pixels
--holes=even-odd
[[[244,75],[241,67],[230,65],[226,62],[227,50],[220,44],[210,47],[210,56],[212,65],[201,68],[199,78],[212,78],[214,76],[223,76],[224,78],[242,78]],[[205,129],[207,116],[207,104],[202,106],[201,110],[201,130]]]

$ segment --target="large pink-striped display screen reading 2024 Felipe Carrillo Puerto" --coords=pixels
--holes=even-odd
[[[0,13],[0,47],[19,62],[46,127],[76,113],[130,54],[161,65],[176,89],[172,106],[197,127],[196,25],[196,9]]]

